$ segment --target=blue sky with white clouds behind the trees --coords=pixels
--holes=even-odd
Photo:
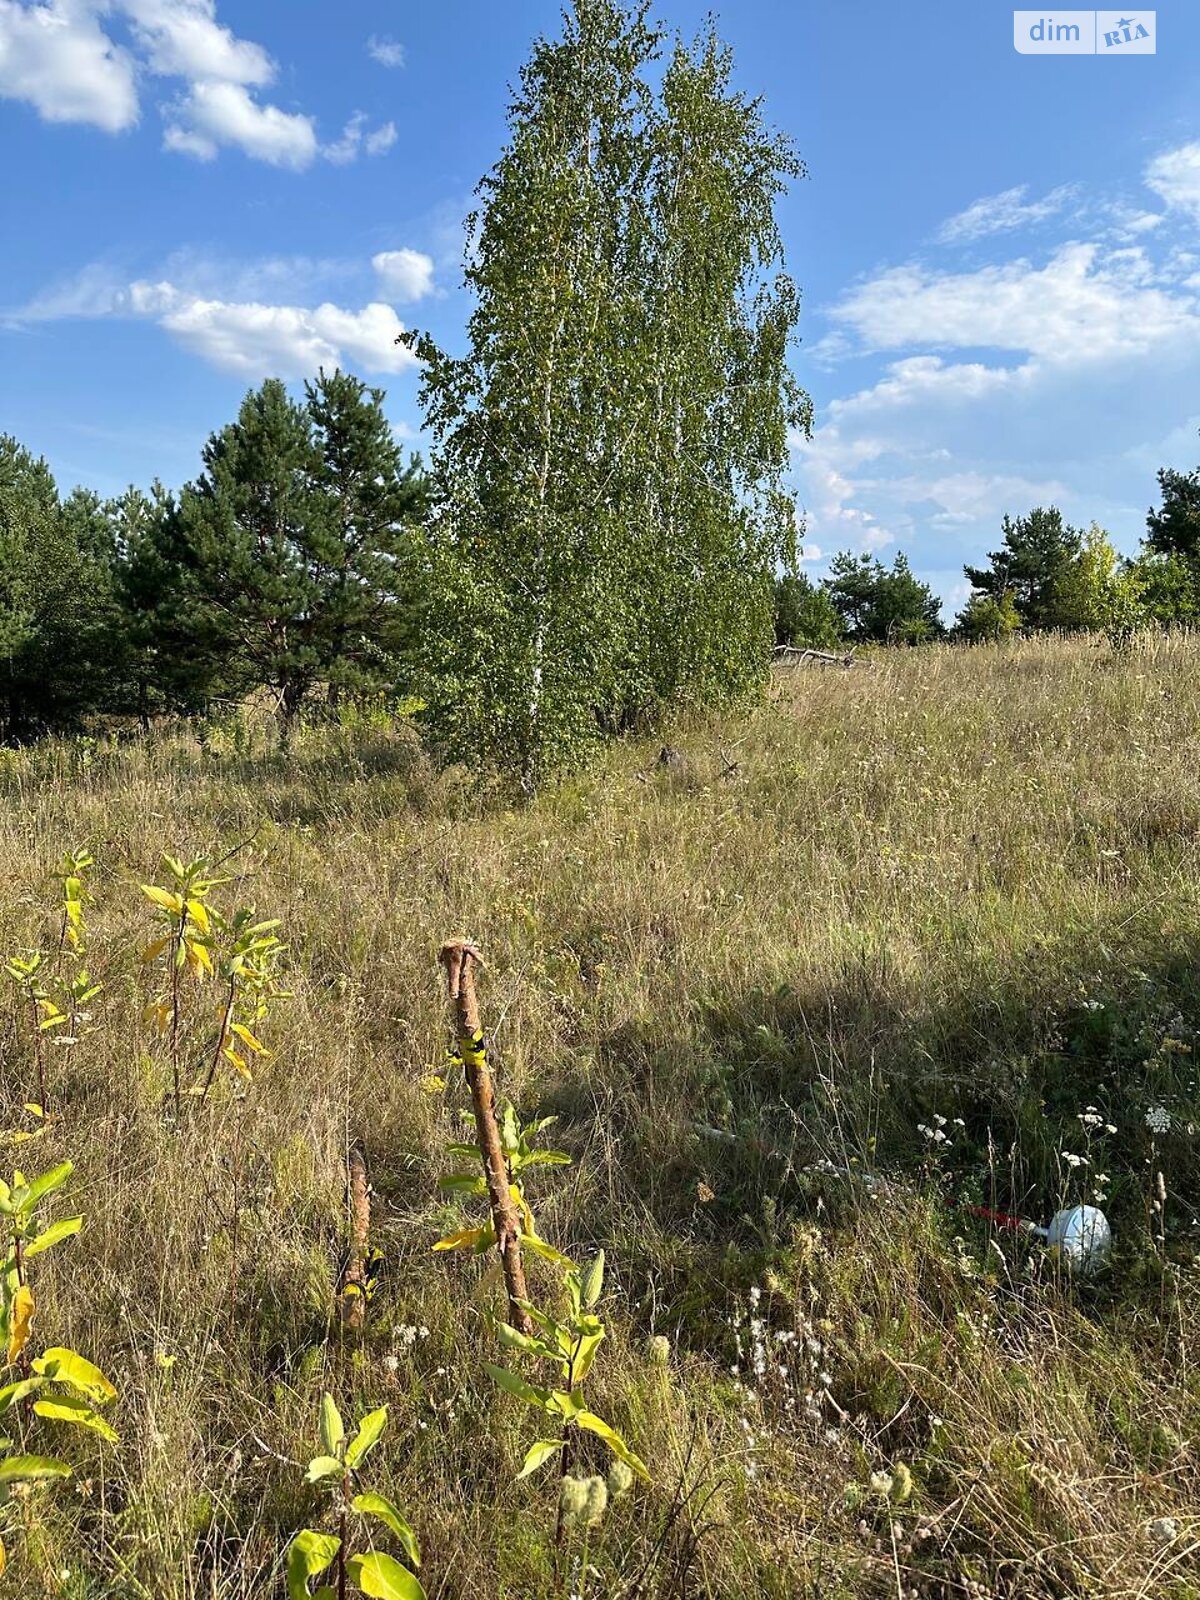
[[[810,570],[904,549],[955,606],[1002,514],[1050,501],[1133,549],[1157,467],[1200,461],[1195,0],[1125,59],[1018,54],[995,0],[718,16],[810,168],[782,206]],[[0,430],[64,486],[174,486],[251,382],[341,362],[416,437],[395,331],[461,341],[461,219],[557,18],[0,0]]]

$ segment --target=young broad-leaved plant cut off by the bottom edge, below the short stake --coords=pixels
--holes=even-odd
[[[410,1568],[421,1566],[416,1534],[398,1509],[384,1494],[365,1491],[358,1474],[370,1451],[387,1427],[387,1406],[370,1411],[349,1438],[341,1413],[331,1395],[322,1395],[322,1450],[309,1462],[306,1480],[331,1491],[338,1533],[302,1528],[288,1546],[288,1600],[344,1600],[347,1581],[378,1600],[426,1600],[426,1590]],[[350,1554],[350,1526],[366,1530],[368,1549]],[[403,1552],[408,1566],[386,1550],[374,1549],[373,1530],[386,1528]],[[314,1578],[334,1568],[336,1587],[320,1584],[309,1589]]]

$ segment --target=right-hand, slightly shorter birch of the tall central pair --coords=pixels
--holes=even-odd
[[[656,702],[765,680],[774,570],[795,560],[782,478],[811,406],[787,366],[798,294],[774,210],[803,165],[731,78],[712,30],[677,43],[653,126],[640,443],[654,560],[637,637]]]

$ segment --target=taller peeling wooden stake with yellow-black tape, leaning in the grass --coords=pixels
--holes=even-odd
[[[488,1182],[488,1203],[491,1206],[491,1222],[496,1229],[496,1246],[499,1248],[504,1267],[504,1286],[509,1291],[509,1322],[518,1333],[533,1334],[533,1318],[520,1304],[530,1298],[525,1286],[525,1266],[522,1262],[520,1218],[512,1203],[509,1163],[504,1158],[499,1125],[496,1123],[496,1088],[488,1066],[488,1054],[483,1045],[483,1029],[478,1018],[478,1000],[475,998],[475,962],[483,957],[466,939],[448,939],[442,946],[438,960],[446,970],[446,986],[450,1003],[454,1008],[454,1026],[458,1029],[458,1048],[462,1056],[462,1070],[470,1090],[470,1104],[475,1112],[475,1130],[483,1155],[483,1176]]]

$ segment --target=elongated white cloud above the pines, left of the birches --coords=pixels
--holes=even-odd
[[[266,306],[202,299],[173,283],[130,285],[130,312],[150,317],[184,349],[242,378],[307,378],[318,366],[357,363],[371,373],[416,365],[397,344],[403,323],[378,301],[362,310],[322,306]]]

